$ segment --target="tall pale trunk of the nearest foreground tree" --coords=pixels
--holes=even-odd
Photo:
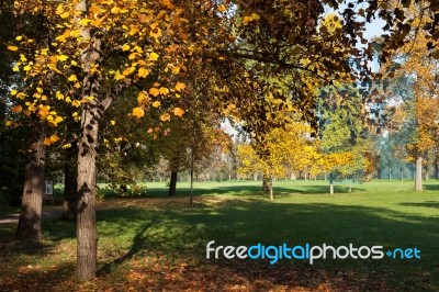
[[[88,15],[90,0],[80,0],[76,5],[77,19]],[[93,71],[93,64],[101,57],[101,41],[90,33],[90,27],[80,31],[87,42],[81,52],[85,72],[81,98],[93,97],[82,105],[80,136],[78,143],[78,209],[77,209],[77,266],[79,281],[95,278],[98,267],[98,228],[95,218],[95,158],[98,149],[99,121],[119,92],[106,91],[106,97],[99,101],[100,74]],[[95,34],[98,35],[98,34]]]

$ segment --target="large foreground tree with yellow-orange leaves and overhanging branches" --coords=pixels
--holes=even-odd
[[[320,25],[324,4],[337,8],[337,2],[235,4],[236,10],[229,1],[16,2],[18,13],[37,12],[47,24],[46,40],[50,40],[41,46],[29,35],[19,35],[18,43],[9,46],[18,54],[27,52],[15,66],[29,80],[25,90],[15,94],[26,98],[22,108],[56,125],[63,119],[50,103],[56,98],[78,108],[76,115],[80,116],[79,280],[93,278],[97,268],[99,124],[124,90],[134,87],[138,91],[133,116],[144,116],[145,109],[159,100],[169,109],[160,115],[161,122],[172,114],[182,116],[184,105],[179,98],[189,89],[180,78],[189,65],[202,64],[204,79],[211,76],[205,87],[210,94],[205,97],[219,106],[239,109],[238,116],[258,141],[263,136],[260,133],[282,124],[281,119],[268,119],[284,106],[282,102],[267,102],[269,93],[278,101],[291,99],[303,117],[314,123],[315,87],[351,75],[347,59],[359,57],[354,44],[361,23],[347,11],[342,30],[329,33]],[[236,13],[232,13],[234,10]]]

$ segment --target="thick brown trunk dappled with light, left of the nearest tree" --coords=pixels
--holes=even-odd
[[[44,146],[44,126],[36,117],[33,119],[30,149],[24,175],[24,189],[16,227],[15,240],[40,242],[42,234],[42,211],[44,186],[44,167],[46,147]]]

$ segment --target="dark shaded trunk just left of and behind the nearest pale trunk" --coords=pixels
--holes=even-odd
[[[78,209],[78,146],[66,149],[64,166],[64,203],[60,220],[76,221]]]

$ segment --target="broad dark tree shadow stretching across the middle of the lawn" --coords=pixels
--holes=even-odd
[[[130,212],[130,220],[126,220]],[[381,207],[335,204],[277,204],[250,201],[230,204],[222,209],[113,210],[100,212],[108,225],[117,229],[101,231],[103,237],[121,237],[131,234],[132,245],[127,252],[108,267],[122,265],[134,255],[147,252],[168,256],[171,261],[181,258],[196,259],[199,265],[232,269],[236,274],[252,279],[278,271],[277,284],[301,283],[317,289],[324,281],[341,289],[339,284],[356,283],[354,290],[381,289],[432,289],[438,288],[437,259],[439,226],[437,218],[409,215]],[[268,260],[224,261],[206,260],[205,246],[215,240],[219,245],[381,245],[384,250],[397,247],[417,247],[423,260],[327,260],[309,266],[304,261],[281,260],[270,266]],[[282,277],[280,271],[293,278]],[[304,279],[303,271],[307,277]],[[275,273],[278,273],[275,272]],[[338,283],[339,274],[346,277]],[[334,280],[334,281],[333,281]],[[435,282],[436,281],[436,282]],[[381,287],[381,288],[380,288]],[[292,287],[294,288],[294,287]],[[337,290],[336,289],[336,290]]]

